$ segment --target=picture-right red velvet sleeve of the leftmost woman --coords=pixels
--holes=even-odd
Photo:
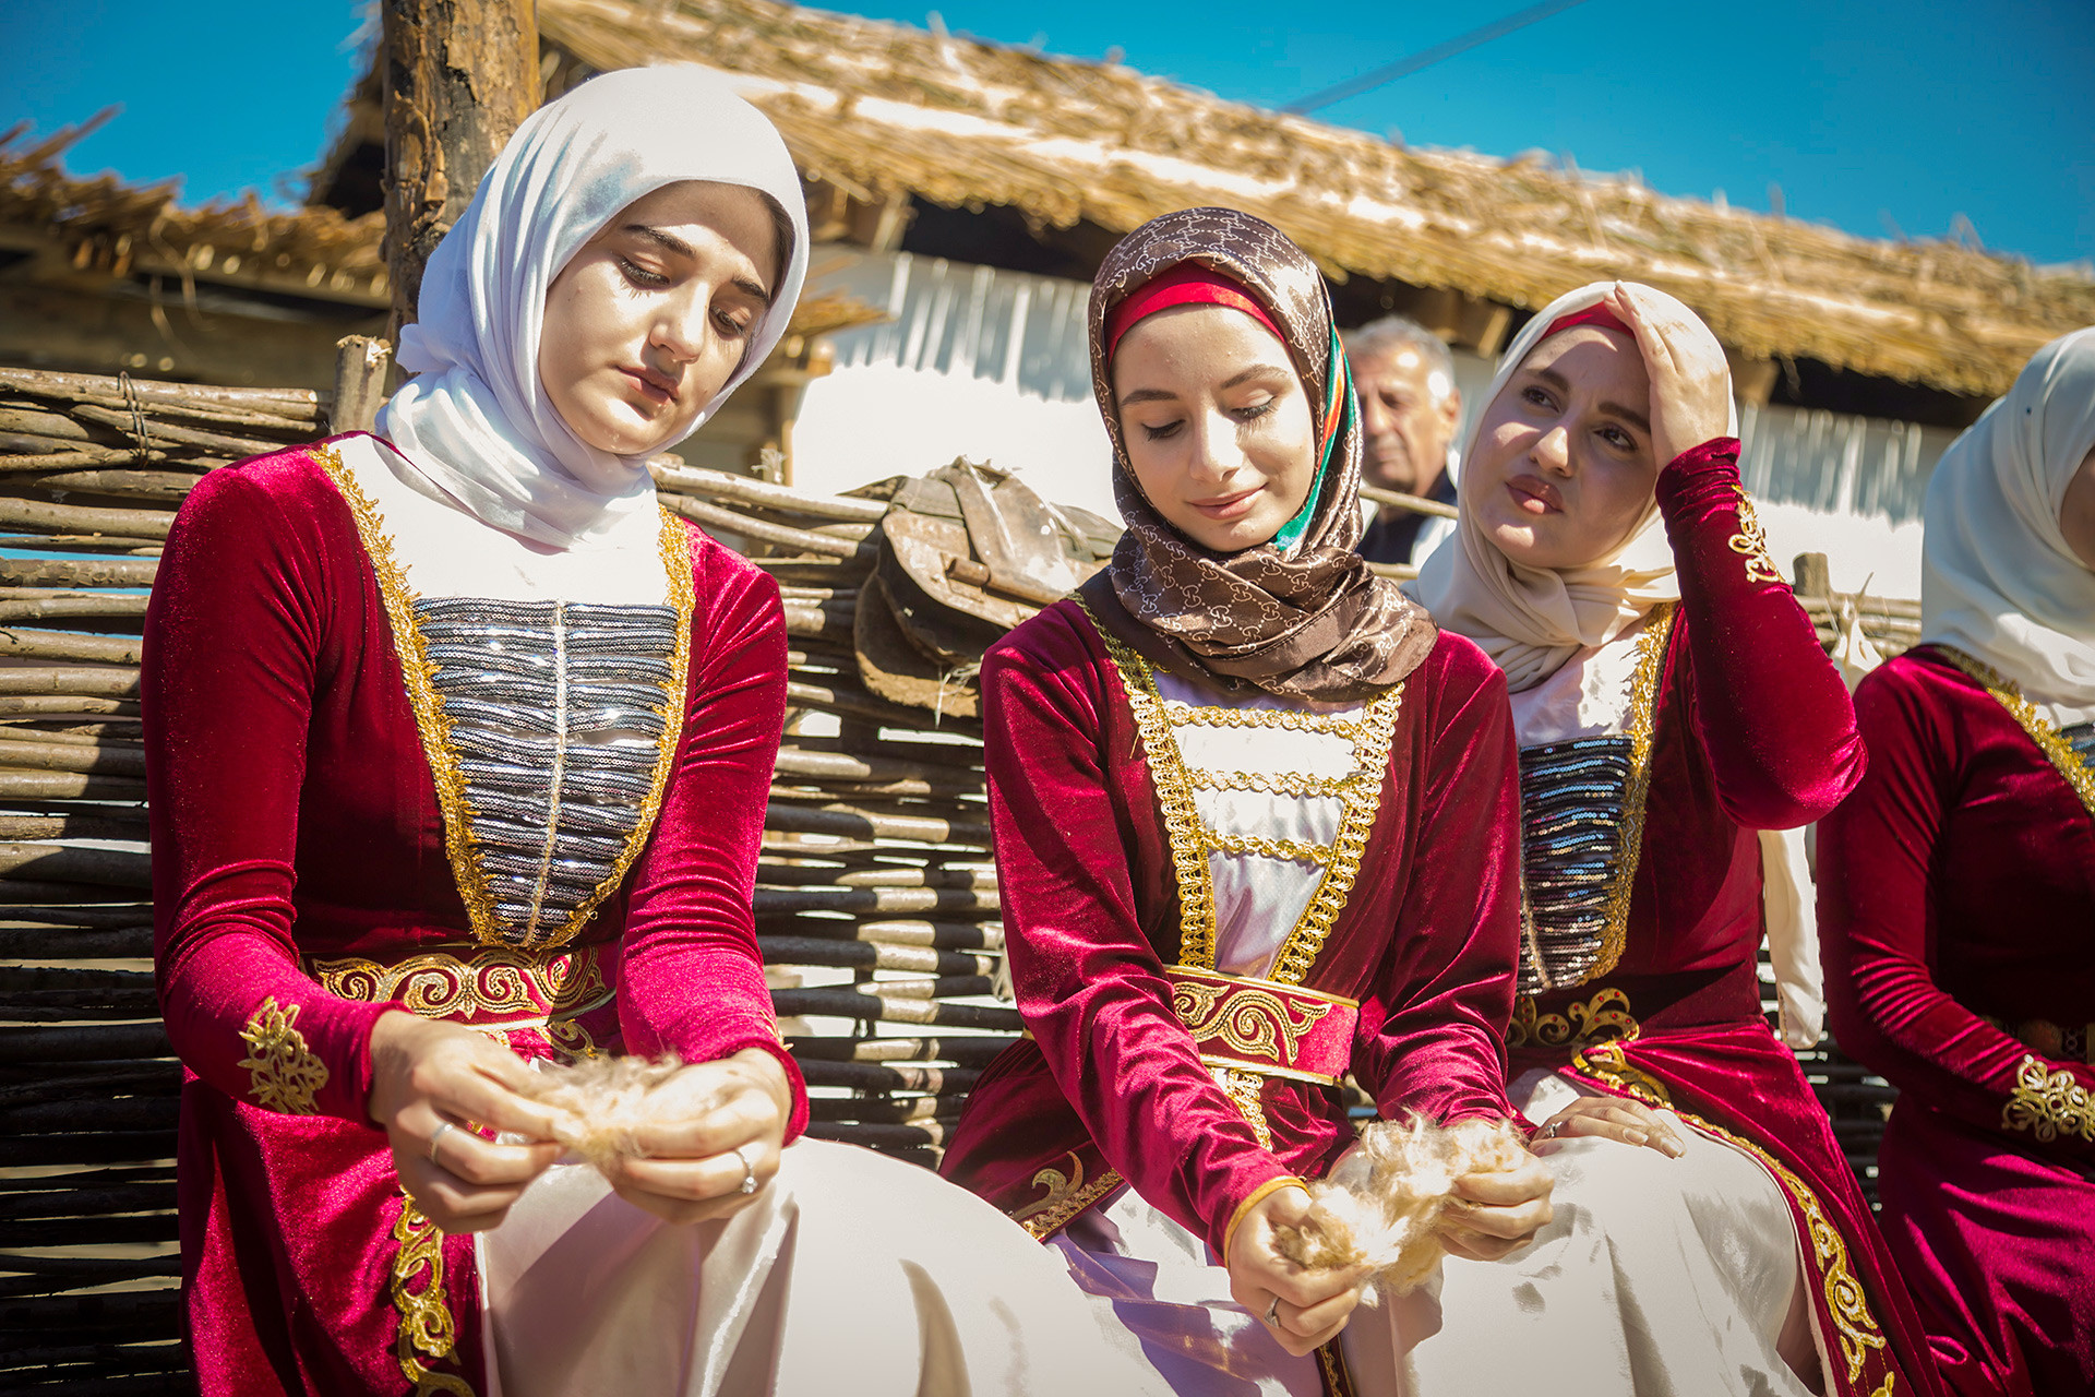
[[[633,1054],[773,1054],[792,1083],[794,1139],[807,1127],[807,1085],[779,1043],[750,913],[786,725],[786,612],[767,574],[710,542],[693,540],[693,551],[685,729],[660,823],[633,867],[618,1018]]]

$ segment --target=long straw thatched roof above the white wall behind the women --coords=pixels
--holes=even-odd
[[[1001,203],[1112,232],[1228,203],[1284,228],[1332,276],[1527,310],[1628,276],[1695,306],[1747,358],[1816,358],[1959,394],[2003,392],[2038,346],[2095,323],[2095,279],[2078,272],[1858,239],[1632,178],[1404,149],[1112,63],[773,0],[538,0],[538,31],[589,69],[725,69],[804,174],[872,197]]]

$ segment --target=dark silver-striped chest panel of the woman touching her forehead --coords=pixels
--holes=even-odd
[[[1628,788],[1628,737],[1521,748],[1523,995],[1580,984],[1601,961]]]

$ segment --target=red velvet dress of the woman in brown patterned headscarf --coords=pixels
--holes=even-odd
[[[1156,773],[1123,670],[1077,603],[999,643],[983,695],[1012,986],[1031,1037],[983,1072],[943,1171],[1041,1238],[1125,1181],[1221,1255],[1247,1202],[1324,1173],[1351,1141],[1341,1093],[1255,1077],[1255,1125],[1203,1062],[1167,978],[1184,945]],[[1500,1043],[1517,800],[1504,679],[1441,635],[1404,681],[1358,882],[1301,978],[1358,1001],[1339,1066],[1389,1116],[1510,1114]]]

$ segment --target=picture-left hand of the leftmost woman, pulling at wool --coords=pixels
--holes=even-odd
[[[400,1188],[444,1232],[486,1232],[559,1158],[553,1112],[517,1093],[522,1058],[463,1024],[404,1010],[371,1026],[371,1121],[394,1150]],[[532,1144],[499,1146],[488,1127]]]

